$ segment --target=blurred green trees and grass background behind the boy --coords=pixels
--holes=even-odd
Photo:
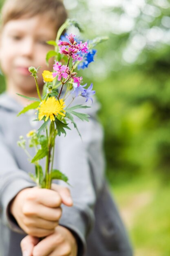
[[[135,256],[169,256],[170,1],[64,3],[82,38],[109,37],[81,74],[101,103],[106,175]]]

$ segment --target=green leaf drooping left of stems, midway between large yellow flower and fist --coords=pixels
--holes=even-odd
[[[44,135],[40,135],[39,142],[41,145],[41,149],[39,149],[36,153],[36,155],[33,157],[31,163],[35,163],[36,161],[46,157],[46,155],[49,153],[48,151],[48,145],[47,145],[47,139]]]

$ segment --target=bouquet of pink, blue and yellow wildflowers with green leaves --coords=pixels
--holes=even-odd
[[[38,86],[38,68],[29,67],[31,76],[35,79],[35,85],[38,92],[38,98],[25,97],[33,101],[26,106],[18,115],[27,112],[30,109],[37,111],[36,121],[40,121],[40,128],[32,130],[27,134],[29,137],[29,146],[35,148],[35,156],[31,157],[26,150],[26,140],[20,137],[18,145],[21,146],[29,157],[31,163],[35,164],[35,175],[30,174],[31,178],[41,188],[51,188],[53,179],[63,180],[68,182],[68,178],[59,170],[53,167],[55,138],[62,133],[66,135],[66,129],[71,130],[68,126],[68,121],[74,125],[79,133],[74,117],[78,117],[82,121],[88,121],[88,115],[77,112],[79,109],[88,108],[86,105],[70,106],[76,97],[86,98],[86,102],[92,99],[95,94],[93,84],[86,88],[87,84],[82,85],[82,76],[78,76],[75,72],[76,68],[88,67],[88,64],[93,61],[96,50],[93,47],[105,40],[105,38],[96,38],[93,41],[82,42],[75,38],[75,35],[68,34],[62,36],[63,31],[69,25],[79,27],[73,20],[66,20],[60,27],[55,41],[48,41],[47,43],[55,47],[54,50],[48,52],[46,55],[46,62],[49,58],[54,57],[55,63],[53,65],[53,72],[44,70],[42,73],[44,79],[43,95],[40,95]],[[60,40],[61,38],[61,40]],[[72,95],[71,101],[66,106],[65,100]],[[79,133],[80,135],[80,133]],[[40,159],[46,157],[46,164],[43,167],[40,165]]]

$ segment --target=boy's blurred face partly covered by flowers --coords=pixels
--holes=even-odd
[[[13,87],[15,92],[35,92],[35,81],[28,71],[29,66],[41,66],[38,83],[42,88],[42,72],[51,70],[53,64],[51,59],[50,66],[46,66],[46,53],[53,49],[46,41],[55,40],[55,37],[55,27],[46,15],[7,22],[0,42],[0,63],[7,79],[7,88]]]

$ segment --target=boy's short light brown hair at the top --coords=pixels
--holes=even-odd
[[[38,14],[45,14],[54,23],[56,31],[67,18],[62,0],[6,0],[1,12],[1,26],[3,28],[9,20]]]

